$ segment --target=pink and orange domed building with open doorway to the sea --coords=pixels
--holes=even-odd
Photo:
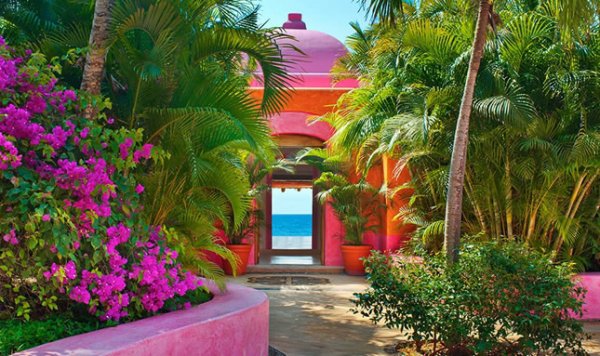
[[[289,72],[294,78],[294,93],[281,113],[269,117],[272,134],[286,157],[295,157],[296,152],[306,147],[324,147],[334,133],[324,122],[310,122],[315,116],[332,111],[339,97],[358,87],[356,79],[334,82],[331,69],[336,61],[348,53],[346,47],[335,37],[326,33],[309,30],[302,21],[302,15],[291,13],[283,24],[285,32],[295,38],[280,43],[283,56],[291,60]],[[297,47],[303,54],[292,48]],[[260,73],[259,73],[260,76]],[[252,95],[260,99],[264,88],[259,81],[251,85]],[[392,179],[393,164],[384,159],[382,164],[372,169],[369,182],[380,186],[398,184]],[[319,172],[308,166],[296,166],[294,173],[275,171],[268,178],[271,189],[265,193],[261,202],[264,207],[265,223],[260,236],[254,241],[254,253],[251,256],[249,271],[275,271],[281,265],[302,265],[307,271],[337,271],[342,266],[341,244],[343,228],[332,208],[321,206],[314,198],[312,201],[312,236],[306,236],[302,246],[298,241],[288,238],[277,240],[273,234],[273,192],[279,190],[311,189],[313,180]],[[405,181],[407,175],[400,180]],[[393,202],[386,202],[391,208]],[[402,202],[398,202],[402,203]],[[381,227],[377,233],[366,236],[365,242],[376,249],[397,249],[406,233],[399,228],[397,221],[392,222],[396,209],[382,209],[379,219]],[[297,248],[297,247],[301,248]],[[274,268],[274,267],[281,268]],[[298,266],[294,266],[298,267]],[[297,270],[297,269],[296,269]]]

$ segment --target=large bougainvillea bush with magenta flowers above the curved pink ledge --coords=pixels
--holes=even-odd
[[[107,102],[83,118],[89,98],[60,87],[57,70],[0,38],[0,311],[159,311],[201,284],[166,246],[166,229],[141,215],[135,174],[161,151],[141,130],[113,127]]]

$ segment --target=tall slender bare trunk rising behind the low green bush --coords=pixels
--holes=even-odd
[[[489,0],[480,0],[473,51],[469,61],[469,71],[465,83],[460,112],[454,134],[452,161],[450,162],[450,177],[448,181],[448,198],[446,203],[446,218],[444,223],[444,250],[449,264],[458,260],[458,245],[460,242],[460,223],[462,215],[462,195],[467,160],[467,144],[469,142],[469,119],[473,107],[475,81],[479,72],[479,64],[483,56],[487,24],[490,15]]]

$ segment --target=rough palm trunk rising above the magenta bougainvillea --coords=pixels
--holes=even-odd
[[[100,94],[102,72],[104,71],[104,62],[106,60],[106,47],[108,45],[108,31],[114,2],[115,0],[96,0],[94,22],[92,23],[92,32],[90,33],[89,52],[85,59],[83,79],[81,81],[81,90],[92,95]]]

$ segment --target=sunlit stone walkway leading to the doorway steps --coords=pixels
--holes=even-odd
[[[367,288],[364,278],[346,275],[283,275],[269,283],[269,275],[249,274],[231,282],[263,290],[270,299],[270,344],[287,356],[390,355],[391,345],[401,340],[398,330],[374,326],[352,314],[352,293]],[[281,278],[284,276],[283,278]],[[328,279],[328,284],[308,285]],[[254,282],[254,283],[251,283]],[[322,281],[314,281],[322,282]],[[600,322],[586,323],[593,339],[586,341],[592,355],[600,355]]]

